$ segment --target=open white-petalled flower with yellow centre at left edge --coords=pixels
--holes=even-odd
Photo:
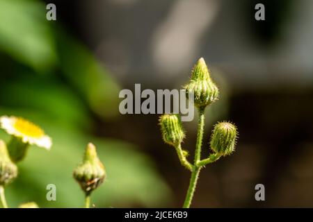
[[[0,123],[1,128],[6,130],[6,133],[22,139],[22,142],[25,144],[35,144],[47,150],[51,148],[51,138],[45,135],[44,130],[31,121],[20,117],[2,116],[0,117]]]

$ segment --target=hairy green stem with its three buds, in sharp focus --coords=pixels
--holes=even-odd
[[[197,185],[200,169],[205,165],[215,162],[221,156],[229,155],[234,151],[236,145],[237,129],[232,123],[220,122],[214,127],[211,135],[211,153],[207,158],[201,160],[202,137],[204,132],[204,110],[218,100],[218,87],[211,80],[210,71],[200,58],[191,71],[191,79],[184,86],[186,97],[193,96],[193,103],[199,111],[199,123],[197,142],[195,144],[195,158],[193,164],[188,162],[188,152],[182,149],[182,141],[185,137],[182,121],[178,114],[164,114],[160,117],[159,123],[163,141],[174,146],[181,164],[191,171],[186,199],[183,207],[190,207],[193,193]]]

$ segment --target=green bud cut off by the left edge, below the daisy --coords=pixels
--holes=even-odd
[[[8,185],[17,177],[17,166],[10,160],[6,144],[0,140],[0,186]]]

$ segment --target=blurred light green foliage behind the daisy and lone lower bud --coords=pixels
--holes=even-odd
[[[77,167],[90,141],[98,147],[99,158],[104,162],[108,175],[104,185],[93,194],[97,207],[118,207],[127,203],[153,207],[166,202],[168,187],[159,179],[151,160],[136,151],[134,145],[88,136],[38,113],[2,109],[0,114],[31,119],[45,128],[54,142],[51,151],[31,147],[25,160],[19,164],[17,180],[6,189],[7,200],[13,207],[31,200],[35,200],[40,207],[83,207],[84,196],[72,178],[72,170]],[[0,137],[6,141],[9,139],[3,130]],[[48,184],[56,185],[56,201],[46,199]]]

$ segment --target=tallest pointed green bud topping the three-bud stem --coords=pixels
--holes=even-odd
[[[191,80],[184,86],[186,96],[193,92],[194,103],[198,108],[205,108],[218,100],[218,87],[211,80],[209,69],[203,58],[200,58],[191,71]]]

